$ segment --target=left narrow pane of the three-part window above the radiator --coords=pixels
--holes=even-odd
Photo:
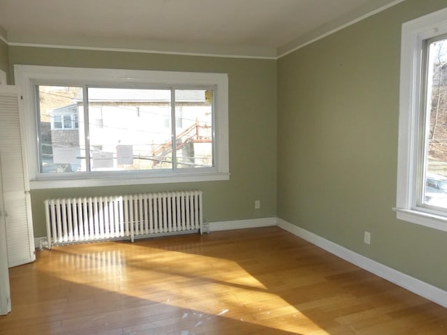
[[[82,114],[82,88],[38,86],[41,173],[85,172],[84,131],[73,129]]]

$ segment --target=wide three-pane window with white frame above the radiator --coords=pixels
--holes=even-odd
[[[15,72],[34,188],[228,179],[226,75]]]

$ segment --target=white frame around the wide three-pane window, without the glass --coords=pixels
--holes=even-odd
[[[194,181],[228,180],[228,75],[226,73],[191,73],[151,70],[116,70],[102,68],[67,68],[55,66],[15,65],[15,84],[20,88],[24,103],[23,115],[25,148],[29,157],[31,189],[87,186],[116,186],[131,184],[164,184]],[[214,167],[176,170],[150,170],[135,174],[43,174],[38,163],[38,119],[36,84],[84,86],[147,87],[217,87],[214,94]]]

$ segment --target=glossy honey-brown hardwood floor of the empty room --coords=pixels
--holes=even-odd
[[[0,334],[447,334],[447,309],[280,228],[40,251]]]

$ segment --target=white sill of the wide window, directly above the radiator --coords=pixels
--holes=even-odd
[[[122,186],[138,184],[175,184],[196,181],[229,180],[230,173],[210,172],[201,174],[163,174],[150,177],[94,177],[82,179],[39,179],[29,181],[31,190],[47,188],[79,188],[92,186]]]

